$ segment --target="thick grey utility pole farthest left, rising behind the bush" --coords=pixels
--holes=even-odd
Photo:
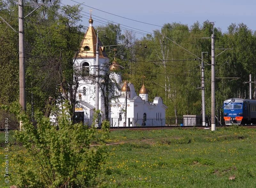
[[[22,110],[26,111],[23,0],[19,0],[18,5],[19,5],[20,105],[22,107]],[[20,130],[22,130],[22,122],[21,121],[20,121]]]

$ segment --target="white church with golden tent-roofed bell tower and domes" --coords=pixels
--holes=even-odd
[[[89,19],[89,27],[81,42],[79,54],[74,58],[74,69],[81,72],[79,87],[76,96],[77,104],[75,118],[82,119],[84,124],[92,124],[95,109],[95,67],[96,67],[96,43],[97,34],[92,26],[92,17]],[[98,39],[99,45],[99,69],[100,75],[110,71],[112,94],[109,94],[108,117],[110,127],[136,127],[136,126],[165,126],[165,110],[161,97],[155,97],[153,102],[148,102],[148,90],[142,85],[137,95],[134,85],[122,81],[118,74],[121,66],[115,61],[109,63],[109,58],[104,47]],[[110,66],[109,66],[110,64]],[[108,66],[106,66],[108,65]],[[104,83],[102,78],[99,83]],[[126,96],[127,93],[127,96]],[[106,118],[104,97],[99,89],[99,109],[102,118]],[[126,118],[125,118],[126,117]]]

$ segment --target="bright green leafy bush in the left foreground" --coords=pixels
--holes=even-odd
[[[55,188],[95,186],[100,167],[107,156],[104,140],[108,138],[109,123],[102,122],[102,130],[72,124],[64,107],[58,118],[58,128],[41,112],[35,113],[36,125],[20,110],[17,104],[2,106],[14,113],[23,123],[16,137],[27,150],[17,160],[19,187]],[[100,111],[96,111],[94,122]],[[98,141],[91,147],[93,141]],[[32,159],[29,163],[26,159]]]

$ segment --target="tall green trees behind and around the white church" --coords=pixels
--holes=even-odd
[[[25,3],[35,4],[36,1],[27,0]],[[89,17],[80,5],[64,6],[58,0],[51,3],[41,6],[24,20],[26,101],[31,119],[35,110],[49,116],[48,106],[54,107],[56,101],[65,99],[73,109],[70,110],[72,116],[76,104],[78,81],[73,58],[80,50],[80,42],[89,25],[81,25],[81,20]],[[17,1],[0,0],[0,7],[0,16],[18,31]],[[24,15],[35,8],[35,5],[24,6]],[[104,46],[128,42],[116,59],[124,67],[120,70],[123,80],[133,83],[137,93],[144,83],[149,101],[155,96],[162,97],[168,106],[167,118],[202,114],[201,60],[197,57],[201,58],[202,52],[208,52],[203,54],[203,59],[209,63],[205,63],[204,75],[206,115],[210,116],[210,37],[213,31],[212,24],[207,22],[195,22],[191,26],[166,23],[152,33],[141,31],[144,37],[139,39],[135,34],[138,31],[133,32],[114,23],[94,25],[94,28],[106,31],[105,34],[99,32]],[[231,23],[226,33],[214,28],[214,36],[216,116],[221,119],[225,99],[249,98],[249,83],[245,82],[249,81],[250,74],[255,81],[256,33],[243,23]],[[10,104],[19,101],[19,35],[3,21],[0,23],[0,46],[0,104]],[[114,48],[118,52],[122,47],[106,47],[109,59],[115,54]],[[255,83],[252,91],[255,99]],[[1,119],[6,116],[11,118],[10,114],[0,113]]]

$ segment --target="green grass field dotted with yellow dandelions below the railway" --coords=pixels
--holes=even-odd
[[[256,187],[255,143],[256,129],[244,127],[112,131],[99,187]],[[17,152],[13,145],[11,174]],[[0,154],[0,187],[8,187],[4,146]]]

